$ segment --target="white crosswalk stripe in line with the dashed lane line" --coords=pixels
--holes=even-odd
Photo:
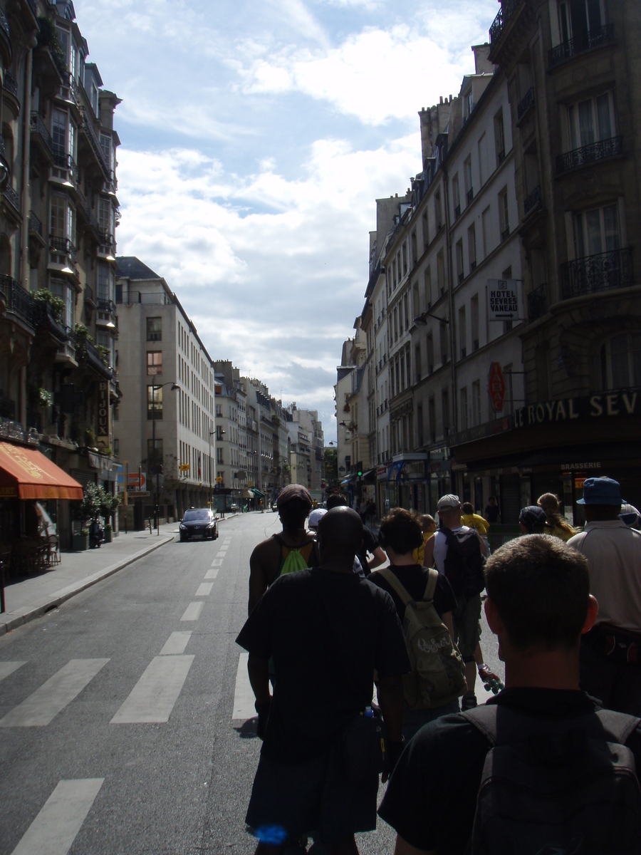
[[[110,724],[168,722],[193,656],[154,657]]]

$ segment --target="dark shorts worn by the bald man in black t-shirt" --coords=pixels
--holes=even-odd
[[[379,775],[348,781],[335,748],[303,764],[261,756],[245,822],[259,838],[262,828],[279,826],[289,837],[313,834],[331,846],[376,828],[378,791]]]

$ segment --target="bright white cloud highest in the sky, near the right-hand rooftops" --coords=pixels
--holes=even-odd
[[[426,35],[398,25],[368,27],[326,51],[292,50],[256,59],[240,72],[245,94],[301,91],[368,125],[415,117],[439,95],[458,91],[464,69]]]

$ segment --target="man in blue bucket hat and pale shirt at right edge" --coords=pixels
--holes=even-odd
[[[641,715],[641,534],[620,517],[620,485],[586,478],[585,530],[567,541],[588,559],[599,613],[581,644],[581,688],[610,710]]]

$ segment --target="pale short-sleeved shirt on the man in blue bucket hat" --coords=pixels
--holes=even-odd
[[[567,541],[588,560],[598,623],[641,633],[641,534],[622,520],[588,522]]]

